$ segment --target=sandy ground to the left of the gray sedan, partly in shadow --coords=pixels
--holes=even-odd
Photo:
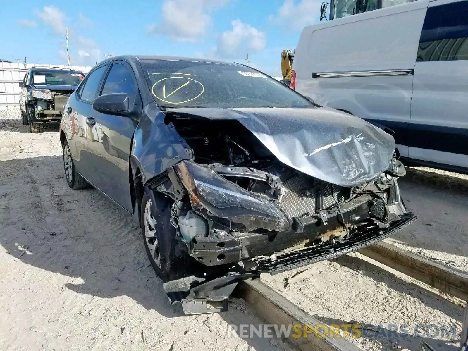
[[[71,190],[57,129],[29,133],[0,111],[0,349],[292,350],[230,338],[259,324],[241,300],[221,314],[170,306],[129,215],[96,190]]]

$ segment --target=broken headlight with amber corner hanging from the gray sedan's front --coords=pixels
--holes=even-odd
[[[288,219],[277,206],[227,181],[212,169],[190,161],[179,162],[175,168],[190,194],[192,207],[204,212],[207,218],[234,230],[289,227]]]

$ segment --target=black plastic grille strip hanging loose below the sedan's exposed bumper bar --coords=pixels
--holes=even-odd
[[[406,218],[395,221],[388,228],[380,229],[375,225],[368,226],[369,228],[354,234],[354,236],[351,236],[351,238],[345,242],[335,244],[325,242],[321,245],[290,251],[277,256],[275,261],[260,263],[260,265],[256,267],[256,271],[259,273],[277,274],[307,266],[308,264],[336,258],[382,241],[403,227],[408,226],[416,218],[417,217],[412,213],[408,213]]]

